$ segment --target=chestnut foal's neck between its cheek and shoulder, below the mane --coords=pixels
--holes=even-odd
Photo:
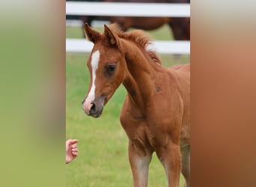
[[[123,85],[132,102],[143,111],[144,103],[151,99],[150,93],[155,88],[152,80],[156,76],[157,65],[144,52],[144,49],[140,49],[135,43],[124,41],[122,46],[127,49],[124,52],[127,76]]]

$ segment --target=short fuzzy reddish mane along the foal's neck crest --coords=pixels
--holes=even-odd
[[[160,61],[159,55],[153,49],[147,49],[147,46],[153,41],[150,35],[146,34],[142,30],[133,30],[133,31],[124,32],[121,30],[120,26],[117,23],[113,23],[112,25],[109,25],[109,28],[111,29],[111,31],[117,34],[118,37],[121,37],[127,40],[132,40],[138,46],[141,46],[141,48],[145,49],[145,51],[147,52],[147,55],[149,55],[150,58],[157,65],[162,64]]]

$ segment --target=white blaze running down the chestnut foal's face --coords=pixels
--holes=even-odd
[[[89,114],[89,111],[91,109],[91,102],[95,99],[95,79],[96,79],[96,70],[98,68],[100,61],[100,52],[97,50],[91,55],[91,76],[92,76],[92,82],[91,82],[91,90],[88,93],[87,98],[85,99],[85,104],[83,105],[84,111],[86,114]]]

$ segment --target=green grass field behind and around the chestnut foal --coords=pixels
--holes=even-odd
[[[82,37],[81,28],[67,27],[66,33],[67,37]],[[172,38],[166,27],[150,34],[156,40]],[[119,121],[126,90],[123,85],[118,88],[100,118],[86,116],[81,102],[90,80],[86,67],[88,55],[66,55],[66,138],[79,139],[79,156],[66,165],[66,186],[130,187],[132,171],[128,161],[128,141]],[[165,67],[190,61],[189,55],[161,55],[161,58]],[[183,177],[180,181],[182,186]],[[168,186],[164,168],[155,154],[150,163],[148,186]]]

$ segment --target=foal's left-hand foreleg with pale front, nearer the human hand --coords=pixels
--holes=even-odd
[[[148,166],[152,153],[129,141],[129,164],[132,168],[133,186],[146,187],[148,177]]]

